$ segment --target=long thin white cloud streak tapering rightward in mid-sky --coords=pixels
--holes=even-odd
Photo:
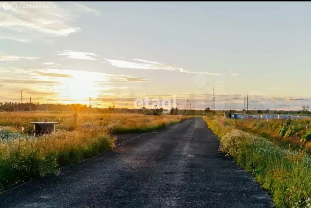
[[[178,71],[183,73],[193,73],[193,74],[208,74],[208,75],[222,75],[217,73],[211,73],[211,72],[194,72],[190,70],[185,70],[181,67],[168,65],[159,63],[156,61],[147,61],[139,58],[130,59],[133,61],[125,61],[125,60],[116,60],[116,59],[109,59],[105,58],[105,62],[101,63],[108,63],[112,66],[119,67],[119,68],[130,68],[130,69],[158,69],[158,70],[169,70],[169,71]]]

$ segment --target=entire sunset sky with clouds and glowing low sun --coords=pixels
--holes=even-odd
[[[0,102],[299,110],[310,45],[310,2],[0,2]]]

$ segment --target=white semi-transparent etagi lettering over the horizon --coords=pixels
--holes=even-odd
[[[152,101],[151,105],[149,105],[149,101]],[[172,102],[173,101],[173,102]],[[173,99],[149,99],[148,97],[145,97],[145,99],[138,98],[134,101],[134,108],[142,109],[143,107],[155,109],[157,106],[160,105],[161,102],[161,108],[163,108],[163,113],[167,114],[170,112],[171,108],[176,106],[176,95],[173,95]],[[138,105],[144,105],[143,107],[138,107]],[[166,109],[166,110],[164,110]]]

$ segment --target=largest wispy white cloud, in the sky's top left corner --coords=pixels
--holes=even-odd
[[[43,34],[46,36],[68,36],[81,30],[72,26],[75,18],[82,13],[100,12],[76,2],[16,2],[24,7],[0,11],[0,27],[21,33]],[[48,8],[42,8],[49,5]]]

